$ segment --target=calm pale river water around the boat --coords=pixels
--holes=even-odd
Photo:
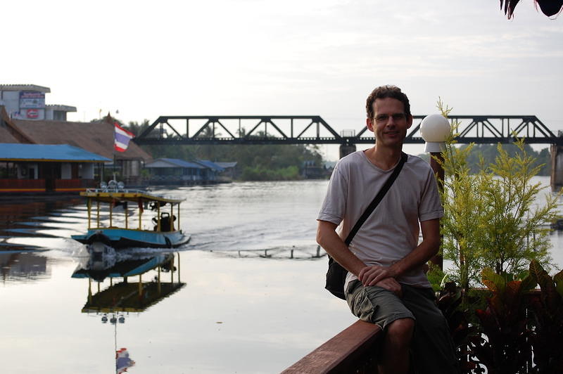
[[[87,226],[80,198],[1,200],[2,372],[115,373],[115,350],[127,348],[128,373],[278,373],[355,321],[323,290],[315,217],[326,186],[153,191],[186,198],[180,225],[191,242],[168,255],[173,267],[157,250],[127,250],[103,264],[115,277],[90,271],[100,282],[84,268],[101,264],[70,239]],[[563,236],[551,238],[560,267]],[[143,273],[141,291],[139,276],[123,282],[150,261],[166,266]],[[129,310],[107,314],[124,323],[103,323],[111,305]]]

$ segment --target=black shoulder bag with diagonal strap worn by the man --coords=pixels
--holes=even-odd
[[[369,206],[365,209],[365,212],[362,214],[360,219],[358,219],[358,222],[356,222],[350,233],[348,233],[346,240],[344,240],[344,243],[346,243],[346,245],[350,245],[350,243],[352,243],[352,239],[354,238],[356,233],[358,233],[358,230],[360,230],[360,227],[362,227],[367,217],[372,214],[379,202],[383,200],[385,194],[387,193],[387,191],[389,191],[389,188],[391,188],[391,185],[393,185],[395,179],[397,179],[400,170],[403,169],[405,162],[407,162],[407,154],[401,152],[400,161],[395,167],[395,170],[393,170],[393,174],[389,176],[384,186],[381,187],[381,190],[375,196],[374,200],[369,203]],[[348,273],[348,270],[344,269],[341,264],[334,261],[334,259],[330,257],[330,255],[328,255],[328,257],[329,270],[327,271],[327,284],[324,286],[324,288],[329,290],[332,295],[346,300],[346,297],[344,297],[344,283],[346,282],[346,274]]]

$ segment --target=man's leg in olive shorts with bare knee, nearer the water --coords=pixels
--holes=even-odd
[[[407,373],[409,349],[415,317],[393,292],[376,286],[350,283],[346,292],[348,306],[355,316],[379,325],[384,331],[384,344],[379,355],[379,373]]]

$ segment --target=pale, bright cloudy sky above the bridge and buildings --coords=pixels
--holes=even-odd
[[[536,115],[563,129],[563,16],[532,0],[8,1],[0,84],[48,86],[69,120],[110,112],[320,115],[365,124],[395,84],[412,113]],[[322,146],[336,159],[336,146]]]

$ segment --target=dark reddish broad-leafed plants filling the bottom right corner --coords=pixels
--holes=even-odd
[[[523,280],[483,270],[491,292],[476,309],[479,334],[469,337],[473,373],[563,373],[563,271],[551,277],[535,260]],[[536,285],[540,290],[535,290]]]

